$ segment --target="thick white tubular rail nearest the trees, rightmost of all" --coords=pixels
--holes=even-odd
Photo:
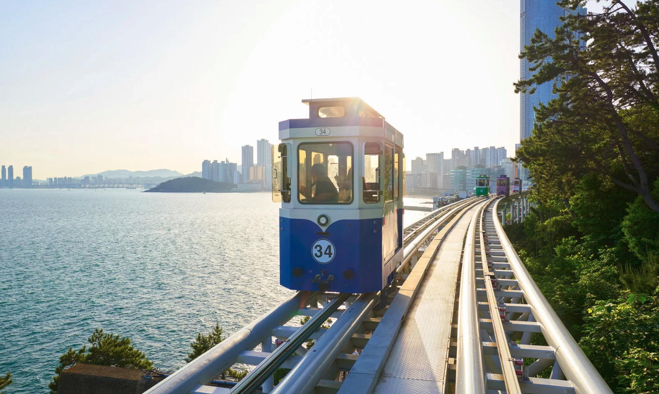
[[[499,202],[500,200],[496,201],[493,209],[494,228],[499,242],[508,263],[515,271],[515,279],[519,283],[519,288],[531,306],[533,317],[542,327],[544,338],[551,347],[556,349],[556,360],[559,362],[563,374],[573,383],[577,394],[612,394],[613,391],[606,385],[602,376],[567,331],[515,252],[515,248],[505,235],[496,214]]]

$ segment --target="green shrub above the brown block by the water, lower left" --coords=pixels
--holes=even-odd
[[[78,351],[69,347],[69,351],[60,356],[59,365],[55,368],[55,376],[48,385],[51,394],[57,394],[60,373],[75,364],[96,364],[136,370],[148,370],[154,366],[143,352],[130,345],[128,337],[120,338],[119,335],[104,334],[103,329],[97,328],[87,341],[90,343],[89,347],[84,345]]]

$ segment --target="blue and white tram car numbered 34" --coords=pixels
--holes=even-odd
[[[279,283],[380,291],[403,257],[403,134],[360,98],[302,103],[309,119],[279,122],[272,150]]]

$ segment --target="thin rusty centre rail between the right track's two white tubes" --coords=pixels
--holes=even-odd
[[[515,359],[510,354],[508,341],[503,330],[503,323],[501,322],[499,305],[496,296],[494,295],[493,281],[497,278],[494,272],[488,269],[487,256],[485,252],[485,242],[483,240],[483,231],[485,226],[485,211],[490,206],[491,201],[488,202],[485,209],[480,211],[480,225],[478,229],[478,244],[480,244],[480,265],[483,270],[483,281],[487,291],[488,306],[490,307],[490,319],[494,328],[494,338],[496,339],[496,346],[499,353],[499,361],[501,363],[501,370],[503,372],[503,382],[505,384],[505,391],[507,394],[521,394],[519,388],[519,381],[517,380],[517,372],[515,372]],[[496,212],[495,212],[496,215]]]

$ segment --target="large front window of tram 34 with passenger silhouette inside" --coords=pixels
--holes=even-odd
[[[300,144],[297,157],[298,199],[302,204],[353,202],[352,144]]]

